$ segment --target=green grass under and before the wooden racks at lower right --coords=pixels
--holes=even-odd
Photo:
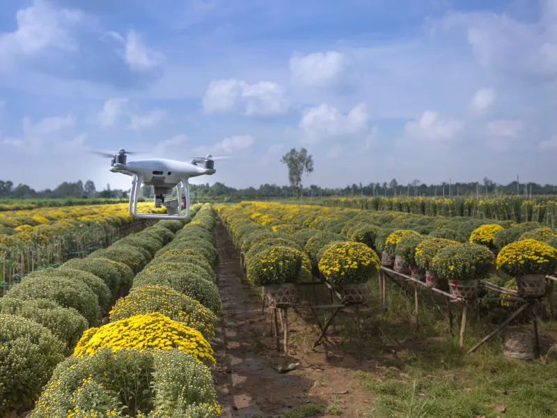
[[[377,359],[378,371],[355,372],[363,389],[376,399],[369,417],[557,417],[556,360],[542,364],[506,359],[501,335],[464,355],[457,341],[460,322],[455,320],[451,336],[444,307],[421,304],[416,330],[411,293],[405,297],[389,286],[387,309],[382,309],[377,293],[372,291],[370,306],[375,309],[366,313],[362,327],[364,353]],[[343,349],[356,353],[354,320],[346,316],[340,326]],[[495,326],[485,318],[471,318],[465,350]],[[544,323],[540,330],[554,333],[557,325]],[[386,354],[391,349],[395,355]]]

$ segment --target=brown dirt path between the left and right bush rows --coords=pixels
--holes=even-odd
[[[292,416],[367,417],[369,392],[363,392],[361,380],[354,377],[354,357],[331,351],[330,347],[311,350],[315,329],[297,317],[289,326],[292,350],[288,362],[301,365],[290,373],[276,371],[285,357],[274,349],[269,314],[262,316],[253,290],[242,283],[237,254],[222,226],[216,235],[223,314],[214,351],[223,417],[281,417],[304,405],[318,405],[322,413]],[[290,315],[294,314],[289,314],[289,320]],[[309,348],[302,348],[306,346]],[[370,364],[359,369],[370,369]]]

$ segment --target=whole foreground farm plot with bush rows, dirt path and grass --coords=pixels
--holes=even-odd
[[[556,272],[555,236],[535,222],[196,204],[0,297],[0,416],[557,416],[549,287],[532,299],[540,353],[531,343],[520,352],[530,361],[503,356],[509,330],[532,330],[522,311],[466,354],[517,310],[509,295],[524,291],[525,268]],[[416,299],[414,282],[389,273],[410,266],[400,274],[423,281]],[[392,280],[378,286],[385,272]],[[476,285],[467,299],[452,288],[462,282]],[[291,284],[294,308],[274,309],[290,303]],[[365,304],[342,298],[350,286]],[[454,297],[453,320],[432,288]]]

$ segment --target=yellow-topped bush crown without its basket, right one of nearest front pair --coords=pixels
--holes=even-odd
[[[375,251],[363,242],[336,242],[324,251],[319,270],[331,284],[350,284],[368,281],[380,265]]]

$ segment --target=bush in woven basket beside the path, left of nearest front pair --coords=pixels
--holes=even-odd
[[[264,286],[274,301],[293,304],[295,284],[311,278],[311,262],[299,249],[278,245],[249,258],[247,277],[255,286]]]

